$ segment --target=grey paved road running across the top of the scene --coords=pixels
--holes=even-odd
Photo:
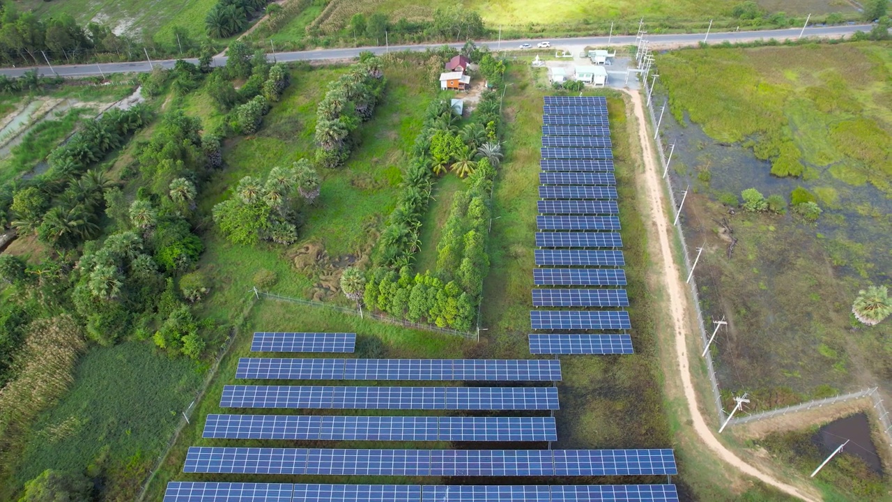
[[[822,38],[838,38],[850,36],[855,31],[870,31],[870,24],[853,25],[853,26],[821,26],[805,29],[803,37],[822,37]],[[708,42],[710,44],[719,44],[724,41],[743,42],[747,40],[756,40],[759,38],[784,40],[788,38],[797,38],[800,28],[796,29],[769,29],[764,31],[730,31],[710,33]],[[650,35],[651,46],[696,46],[705,38],[703,33],[680,33],[673,35]],[[582,38],[561,38],[556,40],[551,38],[552,44],[560,48],[562,45],[574,46],[607,46],[607,37],[582,37]],[[522,39],[522,40],[502,40],[497,42],[489,40],[481,42],[482,45],[490,46],[491,49],[516,49],[520,44],[528,43],[535,46],[541,39]],[[611,46],[624,46],[634,44],[635,38],[632,36],[622,36],[610,38]],[[463,44],[449,44],[452,47],[460,47]],[[443,44],[427,44],[418,46],[391,46],[389,49],[383,46],[376,47],[358,47],[347,49],[321,49],[315,51],[300,51],[292,53],[276,54],[277,61],[318,61],[333,59],[350,59],[359,55],[361,51],[371,51],[375,54],[384,54],[386,51],[424,51],[428,48],[441,47]],[[160,64],[164,68],[173,68],[176,60],[169,59],[164,61],[153,61],[153,64]],[[191,63],[198,63],[195,59],[188,59]],[[214,65],[221,66],[226,64],[226,57],[214,58]],[[19,77],[25,71],[29,71],[34,67],[25,68],[4,68],[0,69],[0,74],[9,77]],[[51,70],[48,66],[38,66],[37,71],[42,75],[52,75],[54,72],[62,75],[62,77],[83,77],[87,75],[100,75],[108,73],[138,72],[150,71],[151,66],[148,62],[138,63],[101,63],[101,64],[74,64],[54,66]]]

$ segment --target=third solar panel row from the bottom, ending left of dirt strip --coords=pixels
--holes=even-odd
[[[554,417],[209,414],[203,438],[556,441]]]

